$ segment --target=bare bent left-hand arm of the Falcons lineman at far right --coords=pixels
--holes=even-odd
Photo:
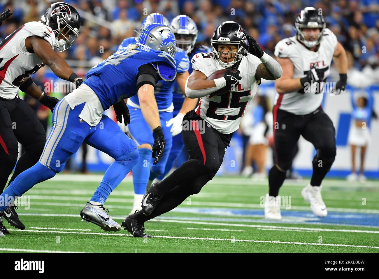
[[[289,93],[297,91],[303,88],[300,82],[300,78],[293,79],[294,65],[290,58],[280,58],[276,57],[279,65],[283,69],[282,76],[275,80],[275,89],[279,94]]]

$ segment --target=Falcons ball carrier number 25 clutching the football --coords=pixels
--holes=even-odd
[[[274,80],[282,75],[277,61],[263,52],[236,22],[219,25],[211,46],[212,52],[193,57],[193,72],[186,82],[188,98],[200,98],[197,108],[183,118],[183,141],[190,159],[169,177],[153,183],[144,196],[142,211],[124,219],[122,225],[135,237],[149,237],[144,233],[144,222],[197,194],[215,176],[260,79]],[[232,71],[232,66],[239,66],[240,70]],[[218,79],[207,80],[220,69],[228,70]],[[227,93],[216,93],[224,87],[228,88]]]

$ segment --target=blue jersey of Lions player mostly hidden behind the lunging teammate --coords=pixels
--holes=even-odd
[[[136,37],[126,38],[119,46],[120,48],[126,47],[128,44],[135,44]],[[179,47],[176,48],[175,54],[175,62],[176,62],[176,71],[178,74],[182,74],[188,71],[191,67],[189,66],[189,58],[186,52]],[[172,91],[176,81],[165,81],[161,80],[155,85],[155,100],[157,101],[158,109],[163,110],[167,109],[171,106],[172,103]],[[133,96],[130,98],[130,101],[137,104],[139,106],[138,96]]]

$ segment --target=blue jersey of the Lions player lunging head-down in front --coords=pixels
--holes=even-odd
[[[163,79],[176,77],[176,63],[171,55],[147,47],[121,48],[89,70],[84,83],[94,90],[106,110],[137,94],[138,68],[144,64],[152,64]]]

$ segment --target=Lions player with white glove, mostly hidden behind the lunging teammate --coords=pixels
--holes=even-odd
[[[141,32],[144,30],[144,28],[146,28],[146,26],[152,23],[161,23],[164,25],[169,25],[169,21],[168,19],[166,19],[166,17],[158,13],[153,13],[149,14],[143,20]],[[136,38],[134,37],[125,39],[120,45],[120,47],[126,47],[128,46],[128,44],[134,43],[135,39]],[[177,52],[175,54],[174,59],[177,65],[176,84],[182,90],[184,90],[186,79],[189,76],[188,56],[185,53],[185,51],[183,51],[180,48],[177,48]],[[127,105],[130,111],[130,119],[132,120],[132,123],[127,127],[127,134],[129,137],[135,140],[135,142],[138,145],[139,151],[139,161],[132,170],[135,195],[131,214],[134,213],[136,210],[141,210],[141,202],[143,199],[143,195],[145,194],[148,181],[152,181],[154,178],[158,177],[158,175],[161,175],[164,172],[166,166],[168,155],[172,146],[172,129],[169,128],[169,126],[171,126],[172,124],[164,124],[171,123],[170,121],[173,119],[172,111],[174,109],[174,106],[172,104],[172,90],[174,84],[175,82],[162,80],[161,82],[157,83],[157,86],[154,90],[155,99],[157,100],[158,104],[159,117],[162,123],[164,139],[166,140],[165,151],[158,164],[151,164],[151,152],[154,139],[150,133],[149,125],[147,125],[141,113],[141,109],[139,107],[140,101],[138,99],[138,96],[133,96],[129,98],[127,101]],[[192,103],[192,105],[191,107],[186,109],[185,113],[193,109],[196,105],[196,103],[194,103],[191,99],[188,99],[187,102]]]

